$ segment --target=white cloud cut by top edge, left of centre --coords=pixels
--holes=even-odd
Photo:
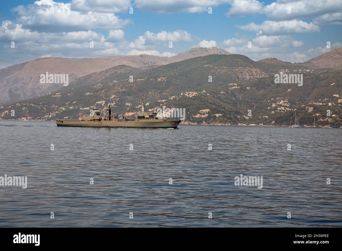
[[[71,9],[76,11],[125,12],[132,6],[130,0],[73,0]]]

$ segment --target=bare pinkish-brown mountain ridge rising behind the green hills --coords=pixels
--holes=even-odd
[[[24,100],[49,93],[60,84],[40,83],[40,74],[68,74],[69,83],[87,74],[118,65],[145,67],[166,65],[185,59],[211,54],[231,54],[216,47],[195,47],[173,57],[153,55],[111,56],[100,58],[38,58],[33,61],[0,69],[0,104]]]

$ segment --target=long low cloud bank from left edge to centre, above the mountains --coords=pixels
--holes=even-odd
[[[163,40],[173,39],[187,41],[187,32],[160,32],[148,34],[149,39],[155,39],[160,44]],[[159,34],[159,35],[158,35]],[[179,34],[181,34],[179,36]],[[175,53],[160,53],[154,44],[147,44],[145,35],[139,36],[133,42],[124,40],[124,32],[120,29],[110,30],[105,38],[100,32],[69,31],[69,32],[38,32],[23,28],[22,25],[4,21],[0,26],[0,41],[7,44],[4,49],[9,53],[25,55],[25,59],[33,60],[38,57],[102,57],[113,55],[140,55],[149,54],[156,56],[172,57]],[[160,41],[158,41],[160,40]],[[15,42],[15,48],[10,48],[9,41]],[[93,43],[93,47],[90,46]],[[117,42],[115,44],[114,42]]]

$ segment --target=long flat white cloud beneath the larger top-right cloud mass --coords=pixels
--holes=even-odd
[[[255,31],[259,34],[282,35],[294,33],[319,32],[319,27],[312,23],[308,24],[302,20],[269,21],[261,24],[250,23],[247,25],[237,25],[242,30]]]

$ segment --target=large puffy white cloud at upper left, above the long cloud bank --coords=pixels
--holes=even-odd
[[[114,13],[74,11],[71,10],[71,3],[56,3],[52,0],[19,5],[13,11],[17,12],[17,23],[38,31],[110,30],[132,22],[130,19],[122,20]]]

